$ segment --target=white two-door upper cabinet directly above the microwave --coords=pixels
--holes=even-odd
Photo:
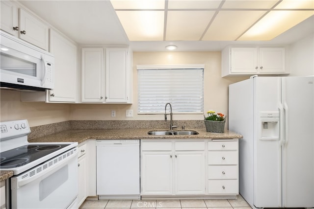
[[[49,26],[19,7],[13,1],[1,1],[1,30],[48,51]]]

